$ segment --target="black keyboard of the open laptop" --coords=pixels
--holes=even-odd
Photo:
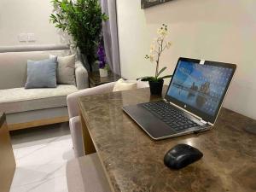
[[[167,125],[170,125],[175,131],[182,131],[198,126],[197,123],[187,118],[182,112],[166,102],[146,102],[142,103],[142,106],[150,113],[154,113]]]

